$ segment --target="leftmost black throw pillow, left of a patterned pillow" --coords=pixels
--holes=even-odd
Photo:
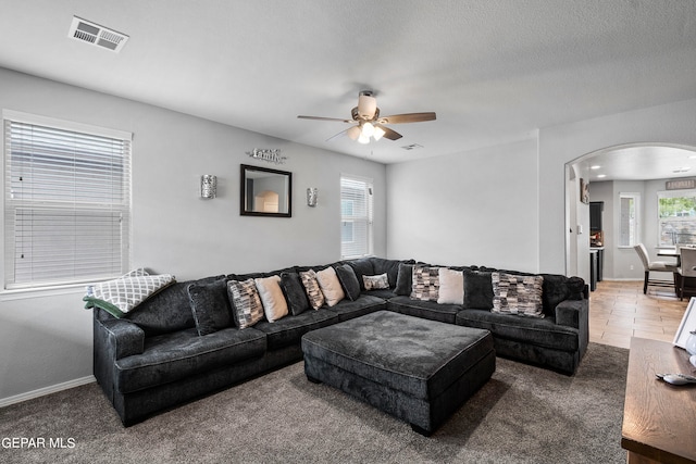
[[[225,279],[210,284],[191,284],[186,291],[199,336],[202,337],[232,325]]]

